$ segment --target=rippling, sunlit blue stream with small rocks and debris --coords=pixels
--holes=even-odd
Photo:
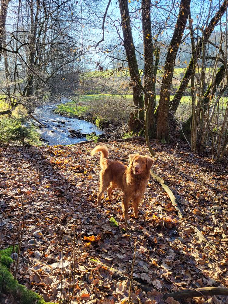
[[[61,98],[61,103],[69,102],[67,98]],[[56,104],[42,105],[37,107],[34,112],[34,117],[38,119],[44,127],[39,127],[37,132],[48,145],[70,145],[86,140],[85,138],[68,137],[69,130],[81,130],[81,133],[90,134],[95,132],[97,135],[102,134],[93,123],[77,118],[68,118],[55,114],[53,110]]]

